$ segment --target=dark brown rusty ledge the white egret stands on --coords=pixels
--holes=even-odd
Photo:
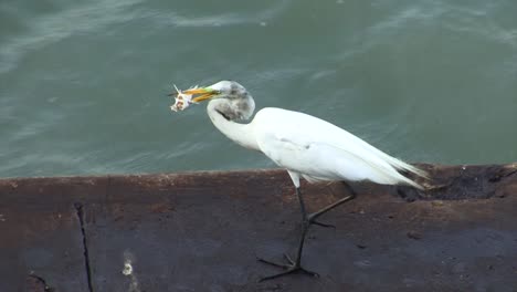
[[[424,165],[434,187],[356,184],[312,227],[283,170],[0,180],[0,291],[517,291],[517,165]],[[316,209],[340,184],[303,185]]]

